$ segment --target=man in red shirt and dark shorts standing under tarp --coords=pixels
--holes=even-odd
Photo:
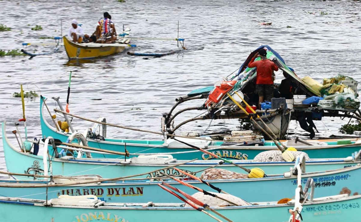
[[[255,59],[261,56],[261,60],[255,61]],[[267,51],[261,49],[253,56],[251,62],[248,64],[248,68],[257,67],[257,79],[256,79],[256,90],[260,97],[259,103],[265,101],[271,101],[273,97],[273,71],[278,71],[278,67],[273,61],[267,59]],[[261,109],[261,105],[260,105]]]

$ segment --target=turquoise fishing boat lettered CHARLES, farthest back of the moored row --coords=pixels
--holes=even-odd
[[[62,142],[65,142],[71,132],[64,132],[60,130],[59,126],[52,126],[44,116],[44,101],[46,98],[42,97],[40,99],[40,123],[42,127],[42,135],[43,137],[52,136],[55,139],[60,139]],[[58,99],[58,98],[57,98]],[[58,101],[58,100],[57,100]],[[58,102],[59,105],[60,102]],[[56,121],[54,121],[56,122]],[[98,122],[106,122],[105,118],[99,118]],[[59,127],[57,129],[57,127]],[[101,128],[101,139],[96,139],[94,135],[98,128]],[[106,138],[106,125],[101,125],[95,123],[90,129],[92,136],[89,136],[89,129],[86,129],[83,134],[86,135],[88,146],[101,148],[110,151],[124,151],[125,145],[126,149],[130,153],[139,154],[171,154],[174,158],[179,160],[212,160],[214,159],[212,156],[208,154],[202,153],[200,151],[195,151],[184,145],[183,143],[179,143],[173,139],[167,139],[166,143],[164,140],[130,140],[130,139],[113,139]],[[75,131],[75,130],[74,130]],[[99,137],[98,137],[99,138]],[[208,138],[209,137],[203,137]],[[258,153],[269,150],[277,150],[277,146],[273,142],[265,142],[264,144],[260,144],[259,146],[248,146],[248,145],[240,145],[239,143],[231,143],[229,142],[213,142],[213,141],[204,141],[197,139],[186,139],[184,140],[187,143],[191,143],[196,145],[197,147],[207,149],[208,151],[217,154],[223,158],[231,159],[231,160],[252,160]],[[361,145],[355,144],[356,139],[353,139],[351,144],[347,145],[337,145],[337,140],[311,140],[313,145],[296,145],[294,146],[297,151],[306,152],[310,158],[340,158],[340,157],[348,157],[350,153],[356,152],[360,150]],[[287,143],[284,141],[287,145]],[[114,155],[110,154],[100,154],[94,153],[93,157],[99,158],[114,158]],[[116,156],[115,156],[116,157]]]

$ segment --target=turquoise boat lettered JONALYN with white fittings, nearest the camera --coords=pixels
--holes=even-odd
[[[183,222],[184,218],[190,222],[199,222],[211,221],[210,217],[218,222],[225,219],[229,222],[240,220],[244,222],[292,222],[299,221],[300,218],[307,222],[339,222],[345,219],[347,222],[359,221],[361,195],[343,194],[314,198],[315,182],[312,178],[307,181],[304,190],[302,190],[302,183],[299,182],[295,191],[295,200],[289,199],[280,203],[263,201],[243,202],[244,204],[241,206],[219,206],[213,202],[213,204],[209,203],[208,200],[201,201],[195,196],[187,195],[187,193],[175,189],[176,192],[182,193],[188,199],[186,200],[160,185],[162,189],[174,196],[177,195],[186,204],[157,204],[153,201],[148,203],[106,203],[97,199],[95,195],[77,197],[61,195],[51,200],[0,197],[0,208],[6,212],[2,216],[6,222],[86,222],[92,220],[135,222],[144,221],[145,218],[150,222],[169,222],[169,218],[172,218],[171,221],[173,222]],[[165,192],[157,192],[157,194],[162,195]],[[29,217],[29,215],[34,216]],[[287,217],[290,219],[287,220]]]

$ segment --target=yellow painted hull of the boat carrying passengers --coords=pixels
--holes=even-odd
[[[66,38],[66,36],[63,36],[63,42],[66,54],[68,55],[69,59],[110,56],[116,53],[121,53],[126,48],[121,46],[84,46],[84,44],[71,42],[68,38]]]

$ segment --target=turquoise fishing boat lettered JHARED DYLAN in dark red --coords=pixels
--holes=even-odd
[[[354,166],[345,169],[321,171],[314,173],[303,173],[302,184],[306,184],[307,178],[312,177],[316,183],[315,197],[325,195],[337,195],[345,187],[351,193],[360,193],[361,166]],[[91,179],[91,178],[89,178]],[[89,180],[88,179],[88,180]],[[93,178],[96,181],[101,178]],[[79,180],[75,180],[79,181]],[[74,182],[74,180],[69,180]],[[206,184],[196,180],[184,181],[206,191],[213,191]],[[227,179],[227,180],[206,180],[231,195],[242,197],[246,201],[274,201],[294,196],[297,187],[297,176],[286,172],[286,174],[268,175],[267,178],[253,179]],[[143,180],[118,180],[90,184],[74,184],[48,182],[45,180],[0,180],[0,195],[6,197],[22,197],[31,199],[57,198],[60,195],[84,196],[95,195],[98,199],[110,203],[174,203],[177,198],[174,196],[160,195],[159,181],[147,178]],[[166,181],[176,188],[193,195],[196,190],[184,187],[174,180]],[[48,193],[46,191],[48,190]],[[247,191],[247,192],[245,192]],[[216,191],[215,191],[216,192]]]

